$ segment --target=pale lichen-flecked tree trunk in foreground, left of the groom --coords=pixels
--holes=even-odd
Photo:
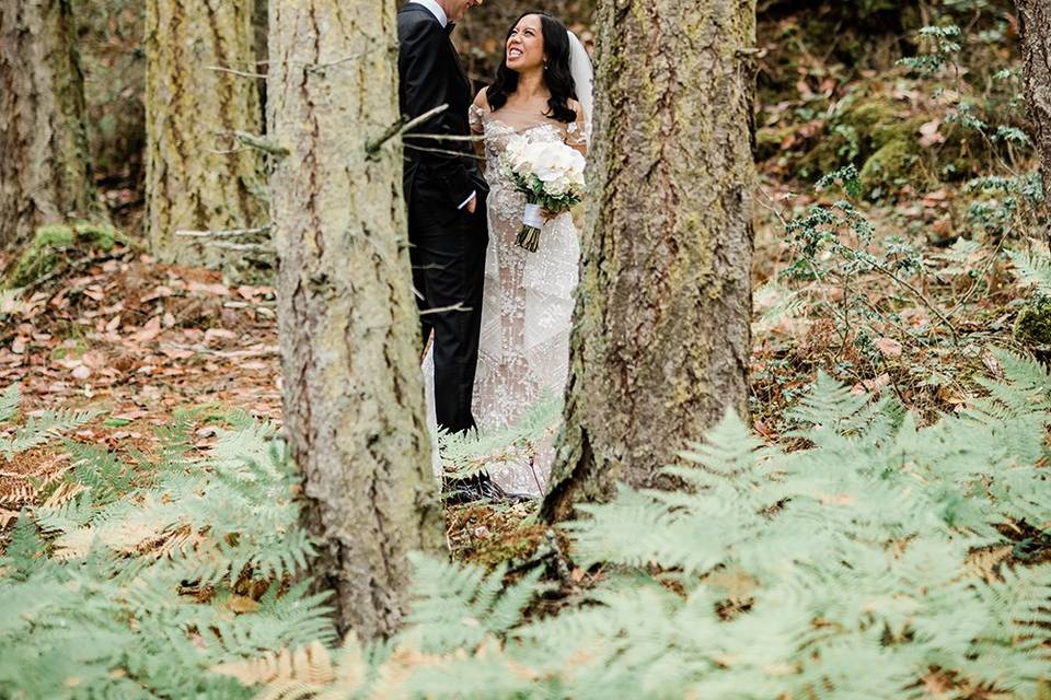
[[[313,575],[340,631],[399,625],[406,555],[441,546],[424,421],[399,119],[394,0],[272,0],[268,132],[285,431]]]

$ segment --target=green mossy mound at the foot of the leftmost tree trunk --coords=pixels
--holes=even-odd
[[[16,289],[53,272],[60,265],[92,255],[108,253],[128,238],[108,224],[76,223],[41,226],[0,281],[0,289]]]

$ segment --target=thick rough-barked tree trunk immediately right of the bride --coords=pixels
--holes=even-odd
[[[547,518],[744,415],[754,0],[605,0],[566,428]]]

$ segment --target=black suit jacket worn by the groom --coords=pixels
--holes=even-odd
[[[455,212],[472,191],[483,197],[488,190],[478,175],[474,147],[470,141],[414,138],[414,135],[470,136],[467,110],[474,97],[471,81],[449,34],[427,8],[409,2],[399,11],[397,43],[402,114],[414,119],[435,107],[449,105],[403,138],[405,197],[409,208],[426,209],[430,215],[444,218]]]

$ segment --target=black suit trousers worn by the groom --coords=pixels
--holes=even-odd
[[[474,213],[408,207],[413,283],[424,345],[434,332],[435,408],[450,432],[475,427],[471,410],[482,329],[482,293],[488,224],[485,196]],[[451,218],[450,218],[451,217]]]

